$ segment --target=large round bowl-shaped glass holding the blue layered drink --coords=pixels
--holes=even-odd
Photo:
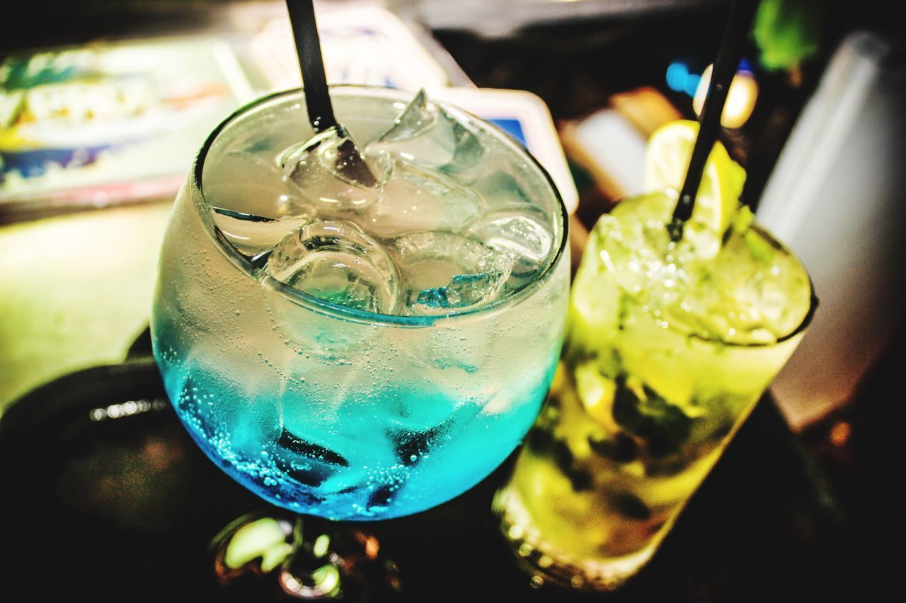
[[[332,97],[338,119],[364,147],[394,123],[411,94],[339,86]],[[443,103],[431,107],[454,111]],[[483,146],[462,150],[468,162],[439,168],[446,172],[438,182],[454,184],[429,196],[433,205],[417,192],[411,207],[388,209],[385,200],[360,201],[355,187],[327,198],[306,190],[304,180],[291,186],[281,178],[275,166],[284,149],[313,136],[301,91],[265,97],[225,120],[178,194],[153,303],[155,358],[188,433],[226,474],[269,503],[327,520],[420,512],[490,474],[537,416],[564,332],[563,202],[525,148],[486,122],[456,114],[467,127],[450,130],[454,142]],[[403,168],[410,175],[404,190],[435,183],[426,180],[429,168]],[[457,205],[459,197],[452,212],[435,203],[461,190],[467,207]],[[478,274],[419,294],[427,313],[374,311],[406,303],[403,277],[386,258],[415,257],[422,264],[406,278],[416,282],[433,269],[419,244],[456,247],[467,238],[462,254],[487,254],[477,237],[522,224],[520,215],[543,226],[550,248],[506,294],[458,307],[454,293],[471,294],[489,278]],[[398,220],[405,244],[393,238]],[[290,231],[300,253],[322,244],[329,252],[306,257],[303,276],[293,277],[328,271],[327,284],[314,292],[276,278],[270,252],[255,248],[261,241],[266,247],[269,236],[273,247]],[[498,238],[506,247],[509,239]],[[516,274],[519,261],[507,271]],[[362,272],[330,273],[337,266]],[[328,285],[354,299],[344,302]]]

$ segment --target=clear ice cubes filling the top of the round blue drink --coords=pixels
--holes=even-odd
[[[556,216],[474,123],[420,91],[376,139],[338,126],[289,148],[238,144],[206,167],[217,234],[262,277],[359,311],[511,295],[553,259]]]

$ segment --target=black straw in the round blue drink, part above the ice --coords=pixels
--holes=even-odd
[[[293,27],[295,52],[305,91],[305,108],[315,133],[337,125],[333,105],[327,93],[327,77],[321,55],[321,38],[314,21],[313,0],[286,0],[289,22]]]

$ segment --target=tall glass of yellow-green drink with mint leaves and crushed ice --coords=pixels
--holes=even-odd
[[[676,200],[620,202],[593,229],[552,394],[495,497],[537,585],[612,590],[651,558],[802,339],[805,268],[757,225],[696,257]]]

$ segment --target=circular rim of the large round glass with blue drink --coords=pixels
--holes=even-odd
[[[392,98],[393,101],[400,102],[410,101],[411,97],[407,98],[405,95],[415,94],[415,92],[411,91],[402,91],[395,88],[385,88],[381,86],[370,86],[364,84],[333,84],[329,86],[329,88],[331,91],[340,91],[342,93],[349,92],[349,96],[355,96],[355,92],[360,92],[360,95],[371,95],[372,97],[383,95],[384,98]],[[234,123],[236,120],[239,120],[249,111],[263,106],[268,102],[275,101],[283,97],[290,98],[293,96],[298,96],[299,100],[302,101],[302,99],[304,98],[304,90],[302,88],[293,88],[284,91],[272,92],[265,94],[264,96],[261,96],[253,101],[249,101],[246,104],[240,106],[238,109],[234,110],[224,120],[218,123],[217,127],[207,135],[207,139],[205,139],[204,144],[202,144],[201,148],[198,149],[198,153],[196,154],[192,162],[191,171],[189,172],[188,184],[193,200],[193,206],[195,207],[198,217],[201,219],[207,236],[209,236],[213,243],[217,245],[217,248],[220,250],[220,252],[226,255],[226,258],[230,261],[230,263],[233,263],[233,265],[240,272],[244,273],[248,278],[251,278],[256,282],[260,282],[262,286],[265,286],[275,293],[282,295],[290,302],[297,303],[298,305],[303,306],[308,310],[316,311],[333,318],[395,327],[429,327],[437,325],[439,323],[448,323],[464,318],[483,316],[489,313],[494,313],[496,311],[505,310],[511,305],[516,305],[520,302],[524,302],[527,298],[531,297],[532,294],[537,292],[545,284],[545,282],[550,280],[551,276],[554,273],[554,270],[563,261],[564,251],[568,248],[569,244],[569,213],[564,204],[563,196],[561,196],[560,194],[560,190],[556,187],[554,179],[550,176],[547,170],[541,165],[537,158],[532,155],[528,148],[525,148],[519,141],[514,139],[503,129],[496,127],[494,124],[488,122],[487,120],[483,120],[473,113],[470,113],[467,110],[463,110],[452,103],[446,101],[429,100],[435,105],[449,107],[466,114],[468,117],[474,120],[477,120],[477,122],[481,124],[482,128],[487,129],[489,133],[496,136],[497,139],[503,142],[505,146],[512,152],[516,153],[516,155],[522,156],[527,159],[529,165],[535,168],[535,170],[537,170],[537,172],[544,177],[545,182],[547,183],[548,187],[550,187],[551,193],[554,196],[556,205],[560,208],[561,219],[559,245],[557,247],[556,253],[554,254],[554,257],[545,266],[544,272],[538,274],[531,282],[525,285],[525,287],[518,290],[512,295],[506,296],[505,298],[495,300],[494,302],[481,304],[477,308],[467,308],[463,311],[453,310],[445,313],[428,315],[395,315],[357,310],[348,306],[343,306],[339,303],[323,300],[322,298],[316,297],[311,293],[294,289],[284,282],[277,281],[275,278],[269,275],[265,275],[264,278],[259,278],[257,273],[260,269],[255,268],[255,266],[249,263],[246,257],[240,254],[232,244],[229,244],[225,239],[217,235],[217,228],[214,224],[212,210],[211,207],[207,204],[204,188],[202,187],[202,176],[205,167],[205,159],[207,158],[207,154],[210,151],[211,147],[214,145],[214,142],[217,140],[217,137],[230,124]]]

